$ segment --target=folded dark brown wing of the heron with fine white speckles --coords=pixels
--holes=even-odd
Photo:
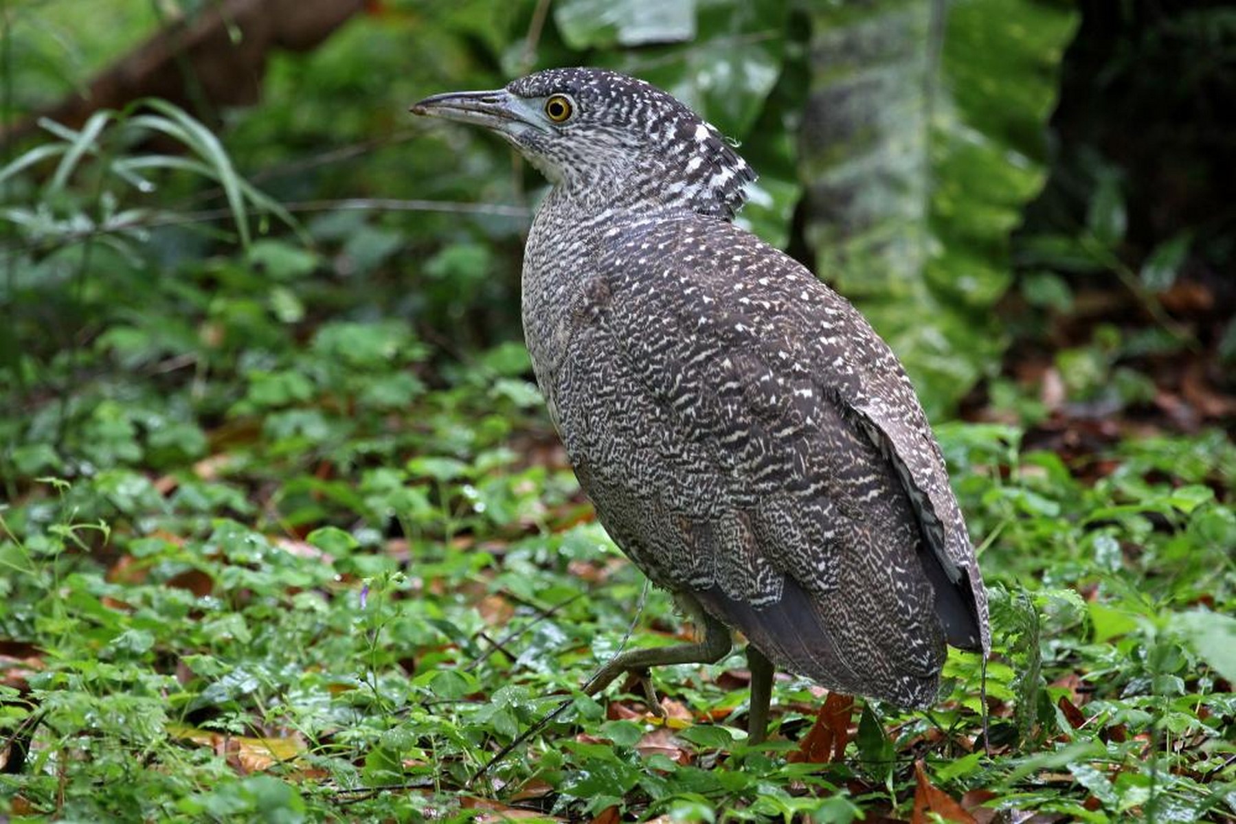
[[[640,232],[616,236],[602,283],[580,290],[587,322],[552,380],[602,523],[779,666],[929,703],[946,637],[988,649],[986,604],[896,358],[844,299],[729,224]],[[637,245],[672,266],[633,258]]]

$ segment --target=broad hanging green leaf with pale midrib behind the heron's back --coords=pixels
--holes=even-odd
[[[990,310],[1010,283],[1009,235],[1044,180],[1077,14],[1052,0],[813,9],[800,163],[817,273],[939,415],[999,363]]]

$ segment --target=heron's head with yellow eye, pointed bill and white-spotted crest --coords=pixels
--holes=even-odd
[[[606,69],[548,69],[451,91],[418,115],[485,126],[582,201],[681,206],[730,219],[755,173],[712,125],[656,86]]]

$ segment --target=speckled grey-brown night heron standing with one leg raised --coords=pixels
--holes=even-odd
[[[750,738],[775,667],[925,708],[946,644],[986,652],[986,594],[910,380],[861,315],[735,226],[755,179],[655,86],[602,69],[440,94],[554,184],[524,254],[536,382],[606,531],[697,642],[623,672],[714,663],[747,636]]]

